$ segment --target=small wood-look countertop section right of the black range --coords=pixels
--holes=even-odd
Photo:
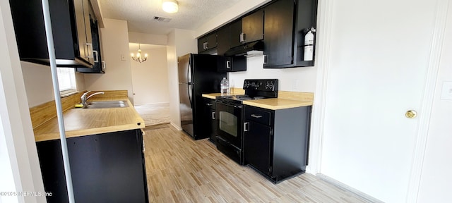
[[[282,99],[282,98],[272,98],[272,99],[256,99],[256,100],[246,100],[243,104],[249,106],[261,107],[263,109],[290,109],[300,106],[312,106],[312,101],[300,101],[292,99]]]

